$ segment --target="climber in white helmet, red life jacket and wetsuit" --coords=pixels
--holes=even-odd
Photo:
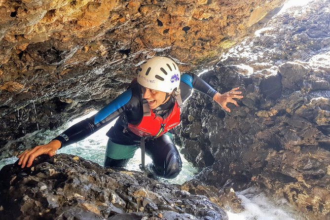
[[[148,59],[138,72],[137,79],[110,104],[48,144],[25,150],[18,156],[18,165],[30,167],[41,154],[53,156],[56,150],[88,137],[119,116],[107,133],[104,165],[124,167],[141,146],[152,159],[146,167],[143,161],[142,168],[152,175],[172,179],[180,173],[182,161],[169,131],[180,123],[180,110],[192,89],[213,98],[229,112],[227,103],[238,106],[234,99],[243,98],[239,88],[220,94],[195,74],[181,75],[177,64],[166,57]]]

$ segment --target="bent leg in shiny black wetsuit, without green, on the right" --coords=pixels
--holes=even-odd
[[[153,175],[173,179],[182,168],[182,161],[177,147],[169,135],[146,142],[146,153],[152,159],[146,169]]]

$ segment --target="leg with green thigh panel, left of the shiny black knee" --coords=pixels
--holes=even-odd
[[[105,167],[124,167],[128,161],[133,158],[137,150],[135,145],[119,145],[113,143],[110,139],[107,144]]]

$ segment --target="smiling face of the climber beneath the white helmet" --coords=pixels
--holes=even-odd
[[[169,96],[165,100],[166,92],[149,89],[143,86],[141,87],[142,87],[143,98],[147,100],[150,109],[156,109],[158,106],[166,103],[170,99]]]

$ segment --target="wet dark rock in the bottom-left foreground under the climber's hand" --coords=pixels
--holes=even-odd
[[[43,155],[23,170],[6,165],[0,176],[0,219],[228,219],[215,188],[197,181],[181,187],[160,183],[141,172],[105,169],[74,155]]]

